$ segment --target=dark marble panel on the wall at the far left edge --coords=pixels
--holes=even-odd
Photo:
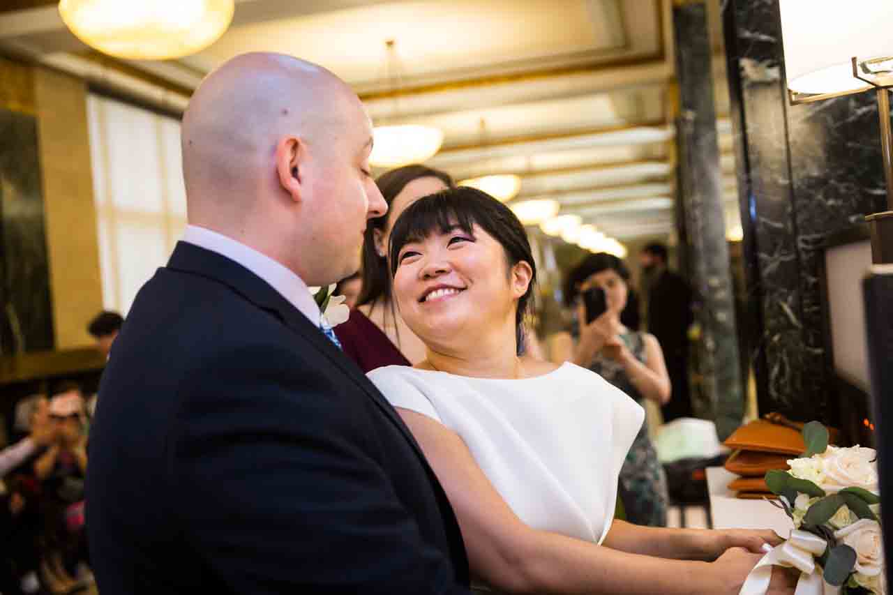
[[[52,349],[37,120],[0,109],[0,353]]]

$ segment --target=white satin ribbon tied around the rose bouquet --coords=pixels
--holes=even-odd
[[[822,556],[828,543],[810,532],[795,529],[788,541],[772,548],[747,574],[739,595],[765,595],[772,581],[772,566],[797,568],[800,579],[794,595],[839,595],[840,588],[824,581],[815,566],[815,557]]]

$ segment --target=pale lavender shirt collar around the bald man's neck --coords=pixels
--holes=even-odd
[[[183,241],[226,256],[266,281],[283,298],[310,319],[320,325],[320,307],[316,305],[307,284],[295,272],[252,247],[197,225],[187,225]]]

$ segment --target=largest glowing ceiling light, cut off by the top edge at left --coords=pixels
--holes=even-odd
[[[230,26],[233,0],[62,0],[77,38],[103,54],[170,60],[210,46]]]

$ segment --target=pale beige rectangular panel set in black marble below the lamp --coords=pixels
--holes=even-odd
[[[834,369],[865,390],[870,381],[862,280],[871,265],[872,244],[867,239],[825,252]]]

